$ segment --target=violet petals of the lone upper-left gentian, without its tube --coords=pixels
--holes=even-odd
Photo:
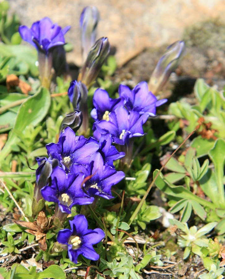
[[[51,48],[64,45],[64,35],[70,29],[70,26],[62,29],[57,23],[53,24],[50,18],[44,17],[34,22],[31,28],[25,25],[19,27],[19,33],[22,39],[38,51],[47,53]]]

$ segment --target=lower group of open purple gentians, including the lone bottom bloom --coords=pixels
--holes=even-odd
[[[57,144],[46,145],[49,158],[37,158],[39,167],[36,178],[38,186],[41,186],[41,196],[46,201],[56,203],[55,216],[60,221],[63,222],[71,213],[72,206],[91,204],[98,197],[113,197],[111,187],[125,175],[123,171],[116,171],[113,165],[113,161],[123,157],[124,153],[118,152],[111,144],[112,137],[109,133],[102,135],[97,141],[92,137],[86,139],[82,135],[76,136],[70,127],[66,127],[60,133]],[[68,244],[69,251],[71,250],[69,256],[74,262],[77,262],[80,253],[88,259],[97,259],[99,256],[93,254],[90,243],[98,243],[105,234],[101,229],[88,230],[87,221],[78,226],[78,219],[86,220],[84,215],[75,216],[70,222],[72,231],[61,230],[57,240]],[[62,237],[63,235],[67,238]],[[76,244],[73,242],[75,240]]]

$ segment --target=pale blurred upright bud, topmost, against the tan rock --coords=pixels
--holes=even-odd
[[[85,7],[80,15],[81,45],[83,62],[87,58],[90,48],[96,41],[97,24],[100,19],[96,7]]]

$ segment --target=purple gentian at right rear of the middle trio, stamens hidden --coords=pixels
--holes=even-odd
[[[149,92],[147,82],[138,83],[133,90],[121,84],[119,96],[129,111],[134,110],[140,114],[148,113],[149,116],[155,116],[156,107],[167,102],[167,99],[157,100],[156,96]]]

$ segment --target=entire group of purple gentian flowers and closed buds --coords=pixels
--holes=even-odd
[[[54,202],[55,218],[62,225],[73,206],[95,204],[99,197],[113,198],[112,186],[125,177],[123,171],[115,169],[113,162],[121,159],[121,166],[130,166],[134,138],[145,134],[143,124],[156,115],[156,107],[167,101],[158,100],[152,92],[161,90],[185,52],[184,42],[175,42],[157,64],[149,84],[140,82],[132,90],[121,84],[119,98],[111,99],[107,91],[97,89],[91,111],[94,137],[87,139],[83,135],[89,131],[88,89],[110,51],[108,38],[96,41],[98,20],[96,7],[84,8],[80,16],[84,65],[78,81],[72,81],[68,89],[75,110],[64,118],[58,143],[46,145],[48,158],[37,158],[32,212],[34,215],[40,212],[41,199]],[[40,80],[47,88],[50,88],[52,66],[59,75],[67,69],[63,45],[69,29],[70,26],[62,29],[47,17],[33,23],[31,28],[19,27],[21,37],[38,51]],[[82,135],[76,136],[74,130],[77,129]],[[118,144],[119,151],[112,144]],[[71,230],[60,230],[57,241],[68,250],[71,261],[77,263],[80,254],[88,259],[99,259],[93,244],[105,237],[103,230],[88,229],[87,219],[81,214],[69,222]]]

